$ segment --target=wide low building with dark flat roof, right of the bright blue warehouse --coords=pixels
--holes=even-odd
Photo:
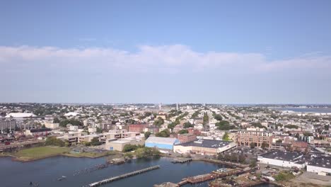
[[[173,152],[180,154],[209,154],[216,155],[237,147],[235,142],[226,142],[222,140],[197,140],[194,142],[185,142],[173,147]]]

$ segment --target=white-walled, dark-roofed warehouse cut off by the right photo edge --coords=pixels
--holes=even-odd
[[[307,171],[319,175],[331,174],[331,157],[312,157],[307,164]]]

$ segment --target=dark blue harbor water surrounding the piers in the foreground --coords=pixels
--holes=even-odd
[[[130,171],[143,169],[148,166],[161,165],[161,169],[149,171],[144,174],[132,176],[127,179],[108,183],[105,186],[153,186],[157,183],[167,181],[179,182],[187,176],[206,174],[222,165],[207,162],[190,162],[187,164],[172,164],[170,159],[161,158],[156,160],[134,160],[131,163],[119,166],[109,166],[105,169],[83,173],[74,176],[74,172],[95,164],[104,164],[105,158],[71,158],[71,157],[52,157],[35,162],[13,162],[11,158],[0,158],[0,186],[30,187],[30,181],[37,182],[40,186],[86,186],[88,183],[100,181],[101,179],[117,176]],[[61,176],[66,179],[57,181]],[[190,186],[190,185],[188,185]],[[207,183],[200,183],[194,186],[208,186]],[[268,185],[264,185],[268,186]]]

